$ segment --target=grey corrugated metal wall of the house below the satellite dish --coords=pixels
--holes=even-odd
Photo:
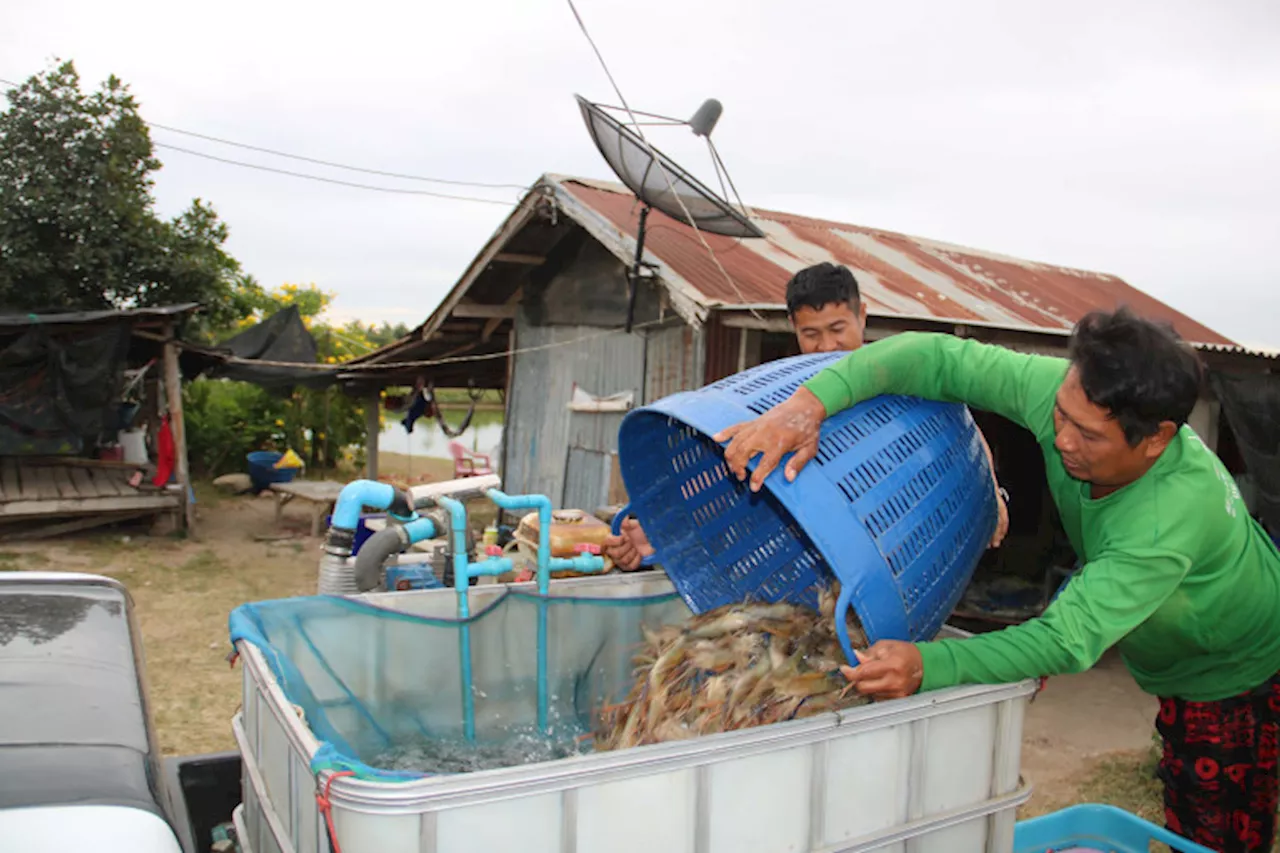
[[[689,327],[648,337],[602,332],[517,318],[517,350],[590,339],[516,355],[504,442],[508,492],[547,494],[556,506],[586,511],[608,502],[623,415],[570,411],[575,382],[596,396],[635,391],[637,406],[703,384],[703,336]]]

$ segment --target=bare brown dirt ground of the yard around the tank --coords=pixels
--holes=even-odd
[[[270,496],[197,491],[198,539],[146,532],[0,543],[0,570],[92,571],[123,580],[142,626],[152,715],[166,754],[233,749],[241,672],[227,661],[227,616],[238,605],[315,593],[320,540],[301,508],[275,524]],[[1114,654],[1082,675],[1051,679],[1030,703],[1023,775],[1034,785],[1023,815],[1116,802],[1156,817],[1151,779],[1155,701]]]

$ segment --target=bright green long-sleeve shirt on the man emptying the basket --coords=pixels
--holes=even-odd
[[[1280,553],[1217,456],[1183,426],[1138,480],[1098,500],[1053,447],[1068,361],[946,334],[899,334],[805,387],[827,414],[881,393],[964,402],[1029,429],[1083,567],[1038,617],[919,643],[923,690],[1079,672],[1119,646],[1138,685],[1208,702],[1280,671]]]

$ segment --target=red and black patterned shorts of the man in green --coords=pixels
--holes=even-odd
[[[1161,699],[1160,779],[1171,833],[1221,853],[1270,850],[1280,800],[1280,672],[1217,702]]]

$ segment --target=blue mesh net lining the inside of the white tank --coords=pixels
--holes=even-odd
[[[456,601],[452,592],[421,594],[438,596],[442,610]],[[540,610],[547,613],[550,739],[536,727]],[[385,757],[398,749],[452,744],[457,754],[480,754],[516,738],[541,751],[549,740],[572,743],[591,730],[602,703],[617,702],[631,688],[641,625],[687,617],[675,593],[544,598],[506,592],[467,620],[312,596],[243,605],[232,612],[229,628],[233,643],[243,639],[261,649],[284,694],[323,742],[314,771],[394,780],[426,775],[387,766]],[[463,729],[463,633],[471,646],[474,743]]]

